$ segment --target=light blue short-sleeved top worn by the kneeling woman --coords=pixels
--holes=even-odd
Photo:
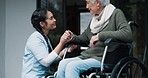
[[[48,40],[50,47],[51,43]],[[49,54],[44,37],[37,31],[29,37],[23,56],[22,78],[44,78],[50,73],[50,67],[43,66],[39,61]]]

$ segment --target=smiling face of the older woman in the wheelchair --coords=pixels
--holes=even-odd
[[[91,14],[97,14],[99,10],[99,3],[97,1],[91,2],[86,0],[86,8],[90,11]]]

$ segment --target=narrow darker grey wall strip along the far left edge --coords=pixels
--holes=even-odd
[[[0,78],[5,78],[5,0],[0,2]]]

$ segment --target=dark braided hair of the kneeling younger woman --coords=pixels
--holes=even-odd
[[[48,36],[45,36],[45,34],[42,31],[41,26],[40,26],[40,22],[46,22],[45,20],[48,18],[47,11],[48,10],[45,8],[36,9],[32,14],[31,23],[32,23],[33,27],[44,37],[44,39],[48,45],[48,51],[51,52],[51,48],[48,43]]]

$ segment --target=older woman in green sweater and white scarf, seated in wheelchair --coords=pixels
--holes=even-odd
[[[87,29],[80,35],[73,35],[72,43],[89,45],[89,49],[81,55],[67,58],[59,63],[56,78],[79,78],[80,73],[91,67],[100,67],[107,38],[118,39],[122,42],[132,41],[131,28],[120,9],[110,3],[110,0],[86,0],[86,8],[93,15]],[[71,33],[73,34],[73,33]],[[114,51],[117,45],[112,45]]]

